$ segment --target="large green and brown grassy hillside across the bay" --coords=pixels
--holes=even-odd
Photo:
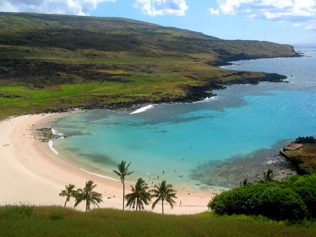
[[[218,84],[280,81],[215,66],[299,56],[290,45],[221,40],[113,17],[0,13],[0,118],[70,107],[195,101]]]

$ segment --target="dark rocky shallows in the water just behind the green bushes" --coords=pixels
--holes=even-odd
[[[290,161],[277,154],[280,145],[281,142],[271,149],[260,149],[225,161],[202,163],[192,170],[190,177],[205,189],[212,186],[235,188],[245,178],[254,182],[257,175],[261,176],[269,168],[274,170],[276,180],[287,180],[297,172]]]

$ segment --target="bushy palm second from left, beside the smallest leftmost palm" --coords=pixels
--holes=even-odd
[[[90,210],[90,205],[99,206],[102,200],[102,194],[92,191],[97,185],[94,184],[92,180],[85,182],[85,187],[83,189],[78,189],[74,194],[76,198],[75,207],[81,202],[86,201],[85,211]]]

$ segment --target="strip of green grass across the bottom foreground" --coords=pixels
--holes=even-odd
[[[312,237],[316,236],[316,224],[286,226],[260,217],[209,212],[176,216],[114,209],[84,213],[59,206],[2,206],[0,236]]]

